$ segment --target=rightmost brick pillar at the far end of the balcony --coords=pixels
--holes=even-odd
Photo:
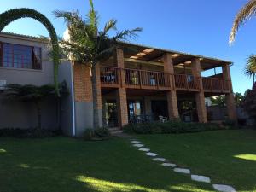
[[[228,80],[229,89],[230,89],[230,92],[225,94],[228,116],[229,116],[229,119],[235,120],[237,122],[236,104],[235,104],[235,98],[233,94],[232,83],[231,83],[230,66],[228,64],[224,64],[222,66],[222,73],[223,73],[224,79]]]

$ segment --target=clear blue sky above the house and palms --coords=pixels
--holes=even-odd
[[[240,29],[231,47],[228,37],[232,21],[245,3],[247,0],[95,0],[95,7],[102,24],[114,18],[119,20],[119,30],[143,27],[135,43],[233,61],[234,91],[244,93],[252,86],[252,79],[243,75],[243,68],[247,56],[256,54],[255,18]],[[59,35],[65,25],[55,19],[53,10],[78,9],[85,15],[89,8],[87,0],[1,0],[0,4],[0,12],[21,7],[37,9],[52,21]],[[48,36],[44,26],[31,19],[16,20],[4,31]]]

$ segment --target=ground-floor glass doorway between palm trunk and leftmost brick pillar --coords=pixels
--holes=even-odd
[[[117,104],[116,101],[106,102],[106,125],[107,127],[118,126],[118,116],[117,116]]]

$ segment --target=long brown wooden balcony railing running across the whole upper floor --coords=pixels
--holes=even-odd
[[[188,90],[199,91],[202,79],[206,92],[225,92],[230,90],[230,82],[226,79],[198,78],[187,74],[168,74],[141,69],[117,67],[101,67],[102,87],[144,90]],[[173,84],[172,84],[173,82]]]

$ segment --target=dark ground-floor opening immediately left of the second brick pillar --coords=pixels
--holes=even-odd
[[[153,113],[154,120],[159,120],[159,116],[168,117],[167,101],[154,100],[151,101],[151,111]]]

